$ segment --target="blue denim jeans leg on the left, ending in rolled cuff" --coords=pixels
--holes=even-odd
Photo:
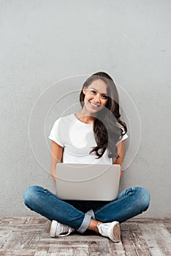
[[[57,220],[80,233],[86,231],[91,216],[77,210],[69,203],[59,200],[48,189],[31,186],[23,194],[25,205],[50,220]]]

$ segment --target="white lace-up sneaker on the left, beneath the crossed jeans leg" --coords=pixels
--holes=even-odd
[[[70,233],[74,231],[74,228],[61,224],[60,222],[56,222],[56,220],[53,220],[50,227],[50,236],[68,236]]]

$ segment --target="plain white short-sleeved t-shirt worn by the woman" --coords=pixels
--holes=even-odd
[[[64,148],[64,163],[113,164],[113,159],[108,157],[107,150],[99,159],[96,158],[95,152],[89,154],[91,149],[96,146],[93,124],[83,123],[76,118],[74,113],[58,118],[53,124],[48,138]],[[128,135],[123,135],[118,143],[126,138]]]

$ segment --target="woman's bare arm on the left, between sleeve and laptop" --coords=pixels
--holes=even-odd
[[[64,148],[62,148],[55,141],[52,140],[50,175],[52,176],[54,181],[56,181],[56,164],[58,162],[61,162],[63,151],[64,151]]]

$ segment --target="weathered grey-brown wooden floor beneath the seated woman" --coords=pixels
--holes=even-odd
[[[43,217],[0,218],[0,255],[171,255],[171,219],[132,219],[121,224],[120,243],[98,234],[50,238]]]

